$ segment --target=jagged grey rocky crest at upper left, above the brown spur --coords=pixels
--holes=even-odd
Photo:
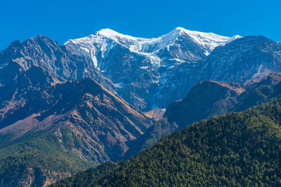
[[[13,62],[13,63],[12,63]],[[53,81],[74,81],[90,77],[102,83],[107,90],[114,87],[112,82],[92,67],[91,60],[70,54],[65,46],[60,46],[48,36],[38,35],[23,42],[13,41],[8,48],[0,53],[0,71],[5,71],[11,64],[13,71],[22,69],[27,71],[32,67],[40,67],[53,76]],[[12,72],[13,73],[13,72]],[[1,80],[1,82],[4,82]]]

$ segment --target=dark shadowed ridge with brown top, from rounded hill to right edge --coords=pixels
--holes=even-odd
[[[280,73],[270,73],[256,83],[241,85],[221,81],[203,81],[190,89],[183,100],[172,102],[164,117],[181,127],[227,112],[242,111],[266,102],[280,93]]]

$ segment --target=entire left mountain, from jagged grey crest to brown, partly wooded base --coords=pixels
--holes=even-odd
[[[43,186],[122,157],[152,120],[114,87],[47,36],[1,51],[0,186]]]

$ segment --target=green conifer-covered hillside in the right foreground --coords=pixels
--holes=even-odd
[[[202,120],[52,186],[280,186],[281,97]]]

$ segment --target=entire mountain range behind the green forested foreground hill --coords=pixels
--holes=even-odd
[[[153,39],[102,29],[64,45],[13,41],[0,53],[0,186],[47,186],[267,102],[278,72],[281,44],[264,36],[177,27]]]

